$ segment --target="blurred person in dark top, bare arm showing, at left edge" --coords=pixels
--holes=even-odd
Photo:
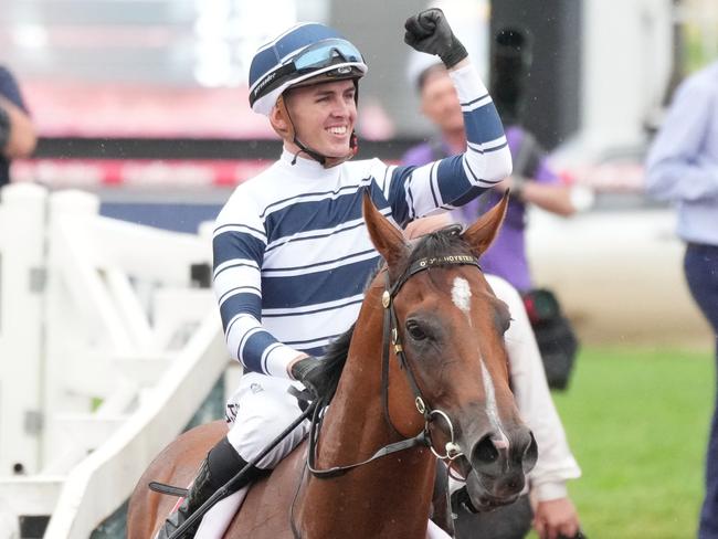
[[[10,71],[0,65],[0,187],[10,181],[10,161],[30,156],[36,140],[20,87]]]

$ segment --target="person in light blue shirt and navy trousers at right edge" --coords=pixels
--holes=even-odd
[[[646,189],[675,202],[690,293],[716,335],[718,361],[718,62],[686,80],[648,152]],[[699,539],[718,538],[718,403],[706,454]]]

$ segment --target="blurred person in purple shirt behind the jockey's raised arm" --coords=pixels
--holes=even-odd
[[[487,273],[504,277],[519,292],[531,288],[531,277],[526,256],[526,210],[536,204],[549,212],[568,216],[583,209],[584,197],[561,181],[547,161],[546,152],[536,138],[519,124],[524,104],[524,81],[528,68],[525,53],[526,35],[515,29],[497,34],[493,52],[492,95],[504,126],[514,160],[514,173],[498,183],[492,192],[484,193],[468,204],[454,210],[448,218],[431,218],[435,225],[448,220],[472,223],[510,189],[511,199],[504,225],[490,249],[482,256]],[[422,113],[440,129],[440,134],[411,148],[402,158],[403,165],[424,165],[445,156],[464,151],[464,119],[456,93],[437,63],[423,68],[415,82],[420,92]],[[420,225],[424,225],[421,223]]]

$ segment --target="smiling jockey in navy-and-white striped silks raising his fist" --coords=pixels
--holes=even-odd
[[[349,161],[357,150],[358,86],[367,64],[335,30],[298,24],[252,61],[250,105],[268,117],[284,150],[236,188],[213,237],[213,285],[225,340],[244,376],[228,402],[228,435],[208,453],[160,539],[300,413],[287,393],[291,385],[321,394],[317,367],[324,347],[357,319],[365,285],[380,261],[361,214],[365,190],[404,228],[468,202],[511,172],[496,108],[443,12],[423,11],[405,29],[409,45],[439,55],[447,67],[468,141],[464,154],[423,167]],[[251,480],[274,468],[307,427],[298,426],[260,461],[243,484],[234,485],[235,496],[243,498]]]

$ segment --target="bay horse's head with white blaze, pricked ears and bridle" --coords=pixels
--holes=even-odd
[[[406,363],[392,368],[390,420],[402,434],[429,424],[432,448],[452,457],[478,509],[515,500],[538,453],[509,389],[504,334],[510,313],[476,265],[507,202],[505,197],[464,232],[448,228],[411,245],[368,197],[363,205],[371,240],[387,262],[372,288],[388,290],[386,324],[395,327],[398,345],[391,356]],[[414,404],[418,397],[424,411]]]

